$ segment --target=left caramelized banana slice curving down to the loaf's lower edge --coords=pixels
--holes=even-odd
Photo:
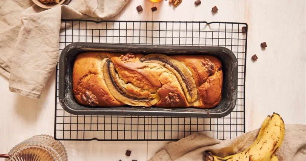
[[[124,89],[118,81],[118,75],[116,75],[114,64],[110,60],[106,60],[103,65],[103,76],[110,93],[114,98],[124,104],[149,107],[155,105],[160,100],[158,94],[150,94],[148,97],[142,97],[131,94]]]

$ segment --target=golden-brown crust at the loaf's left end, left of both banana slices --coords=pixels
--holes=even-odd
[[[120,106],[123,103],[117,101],[108,90],[101,71],[103,53],[86,52],[76,57],[73,65],[73,94],[76,101],[89,105],[81,97],[86,91],[90,91],[98,99],[97,106]]]

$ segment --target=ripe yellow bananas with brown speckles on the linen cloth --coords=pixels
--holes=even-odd
[[[255,142],[241,153],[221,158],[205,152],[205,158],[207,161],[270,161],[281,146],[284,136],[285,123],[282,117],[273,113],[263,122]]]

